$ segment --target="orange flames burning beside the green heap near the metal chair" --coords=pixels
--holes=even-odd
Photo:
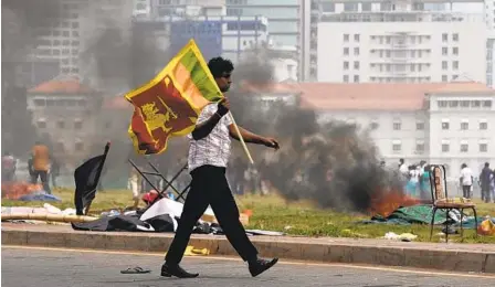
[[[397,209],[402,206],[412,206],[420,203],[418,199],[408,196],[400,191],[379,192],[371,200],[369,212],[371,215],[389,216]]]

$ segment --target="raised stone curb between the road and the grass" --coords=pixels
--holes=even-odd
[[[2,228],[2,245],[86,248],[105,251],[165,252],[173,234],[27,231]],[[434,249],[403,246],[371,246],[343,243],[309,243],[285,237],[251,237],[262,256],[285,259],[403,266],[449,272],[495,274],[495,252]],[[212,255],[238,254],[217,235],[194,235],[190,245]]]

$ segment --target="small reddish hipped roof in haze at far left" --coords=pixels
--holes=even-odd
[[[95,91],[81,84],[77,78],[52,79],[29,89],[40,94],[91,94]]]

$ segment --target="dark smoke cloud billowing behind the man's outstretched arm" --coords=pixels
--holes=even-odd
[[[270,88],[273,67],[267,63],[270,59],[239,63],[234,81]],[[250,149],[262,177],[286,201],[310,200],[324,209],[366,212],[373,199],[402,192],[399,178],[380,167],[366,129],[338,120],[319,125],[316,113],[299,108],[297,100],[296,105],[275,103],[266,109],[256,96],[242,88],[229,93],[232,113],[247,129],[281,140],[276,153],[262,147]],[[244,151],[235,149],[244,160]]]

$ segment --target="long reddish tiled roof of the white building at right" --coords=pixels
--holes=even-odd
[[[419,83],[419,84],[344,84],[344,83],[294,83],[274,84],[262,88],[250,87],[253,93],[301,94],[303,108],[320,110],[418,110],[424,97],[434,93],[491,92],[482,83]],[[468,94],[467,94],[468,95]]]

